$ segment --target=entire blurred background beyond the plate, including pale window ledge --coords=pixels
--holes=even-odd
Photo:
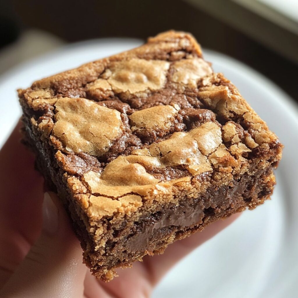
[[[62,43],[192,32],[273,80],[296,101],[297,0],[0,0],[0,72]]]

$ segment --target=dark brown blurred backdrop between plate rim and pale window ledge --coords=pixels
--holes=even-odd
[[[100,37],[146,39],[169,29],[188,31],[203,47],[248,64],[298,102],[296,63],[182,0],[0,0],[0,50],[28,28],[51,32],[68,42]]]

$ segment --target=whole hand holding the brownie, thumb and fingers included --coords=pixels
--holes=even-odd
[[[119,269],[119,277],[103,283],[82,263],[79,241],[58,197],[44,195],[43,178],[20,143],[19,129],[20,124],[0,151],[0,297],[149,297],[173,265],[238,216],[171,244],[162,255]]]

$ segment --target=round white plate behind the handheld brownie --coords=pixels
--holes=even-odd
[[[140,44],[102,39],[69,45],[22,64],[0,78],[0,146],[20,116],[15,89],[33,80]],[[246,211],[231,226],[184,258],[153,297],[297,297],[298,109],[277,86],[240,62],[205,51],[285,145],[272,201]]]

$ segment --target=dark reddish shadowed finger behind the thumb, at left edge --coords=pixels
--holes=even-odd
[[[0,150],[0,288],[21,263],[41,227],[43,178],[21,144],[18,123]]]

